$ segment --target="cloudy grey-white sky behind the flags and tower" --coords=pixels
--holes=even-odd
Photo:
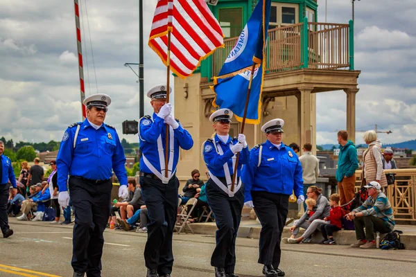
[[[138,1],[87,0],[87,8],[85,0],[80,3],[86,96],[98,91],[112,97],[106,122],[120,134],[123,120],[139,118],[137,78],[123,66],[139,60]],[[324,22],[325,0],[318,4],[318,21]],[[145,91],[165,82],[160,76],[166,74],[147,46],[155,6],[156,0],[144,1]],[[350,0],[328,0],[328,22],[347,23],[351,13]],[[391,129],[393,134],[379,134],[383,142],[416,138],[415,15],[415,0],[356,1],[355,67],[362,71],[356,127]],[[76,53],[73,1],[0,0],[0,136],[59,141],[67,125],[80,121]],[[343,91],[318,94],[318,144],[336,143],[334,131],[346,124],[345,99]]]

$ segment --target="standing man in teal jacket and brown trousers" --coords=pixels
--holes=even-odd
[[[348,140],[347,131],[341,130],[338,132],[338,143],[340,144],[340,154],[335,177],[338,182],[340,206],[343,206],[354,198],[355,171],[358,168],[358,157],[354,143]]]

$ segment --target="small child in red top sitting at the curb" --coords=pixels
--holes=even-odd
[[[320,244],[336,244],[333,240],[333,232],[340,231],[343,228],[341,218],[345,215],[343,209],[338,205],[340,196],[334,193],[329,196],[329,204],[331,204],[331,211],[329,211],[329,217],[325,217],[325,221],[329,221],[330,224],[324,224],[320,226],[320,231],[324,239]]]

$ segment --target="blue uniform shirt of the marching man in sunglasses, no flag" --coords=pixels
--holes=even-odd
[[[76,146],[73,139],[80,125]],[[85,119],[65,131],[56,159],[58,167],[59,191],[67,190],[68,175],[92,180],[105,180],[112,177],[112,169],[121,185],[127,185],[125,156],[116,129],[103,124],[97,130]]]

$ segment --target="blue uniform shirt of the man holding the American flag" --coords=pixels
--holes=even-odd
[[[157,139],[159,138],[159,135],[162,135],[162,155],[164,157],[164,151],[166,148],[166,123],[164,123],[164,120],[162,118],[159,118],[157,114],[153,113],[152,118],[150,118],[150,116],[144,116],[140,118],[139,130],[139,144],[141,153],[143,154],[140,159],[140,172],[153,173],[148,168],[148,166],[146,166],[143,160],[143,156],[145,156],[146,159],[148,159],[150,164],[157,170],[157,172],[161,172]],[[175,172],[177,161],[179,160],[179,148],[182,148],[184,150],[191,149],[193,146],[193,139],[191,137],[191,134],[189,134],[189,132],[186,129],[184,129],[182,125],[179,125],[179,127],[173,129],[173,135],[174,142],[172,172]],[[164,175],[164,172],[162,172],[162,174]]]

